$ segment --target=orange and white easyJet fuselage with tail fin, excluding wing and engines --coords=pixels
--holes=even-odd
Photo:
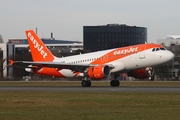
[[[166,49],[162,49],[164,47],[159,44],[139,44],[57,58],[53,56],[49,50],[47,50],[46,46],[44,46],[39,38],[36,38],[36,35],[33,31],[26,31],[26,35],[34,62],[38,63],[43,61],[65,64],[65,66],[57,68],[46,67],[46,65],[41,68],[41,65],[39,65],[39,69],[34,69],[33,72],[56,77],[84,77],[84,73],[81,72],[82,70],[78,70],[78,67],[81,69],[81,66],[83,65],[89,65],[89,67],[91,65],[107,65],[110,66],[111,73],[122,73],[135,69],[145,68],[147,66],[153,67],[164,64],[174,57],[172,52]],[[156,48],[159,50],[152,51]],[[77,71],[69,69],[70,65],[73,67],[77,65]],[[31,71],[29,68],[26,70]]]

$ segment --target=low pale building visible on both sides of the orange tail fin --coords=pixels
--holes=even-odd
[[[56,52],[57,57],[64,55],[66,53],[72,53],[78,49],[80,50],[83,49],[83,44],[80,41],[54,40],[54,39],[42,39],[42,41],[52,52]],[[9,52],[11,52],[13,55],[16,54],[23,55],[24,53],[29,52],[27,39],[9,39],[8,46],[9,46],[8,47]]]

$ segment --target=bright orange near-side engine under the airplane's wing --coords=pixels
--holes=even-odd
[[[91,79],[107,78],[110,75],[110,68],[106,65],[90,67],[87,74]]]

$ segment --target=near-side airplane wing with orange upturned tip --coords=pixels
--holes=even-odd
[[[42,68],[42,67],[49,67],[49,68],[58,68],[61,69],[70,69],[72,71],[79,71],[82,72],[86,68],[94,67],[94,66],[101,66],[102,64],[77,64],[77,63],[62,63],[62,62],[32,62],[32,61],[13,61],[10,60],[10,66],[18,67],[18,68]],[[109,66],[111,69],[114,68],[112,64],[105,64]]]

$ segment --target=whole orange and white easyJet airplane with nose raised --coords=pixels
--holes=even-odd
[[[113,77],[111,86],[119,86],[120,73],[144,79],[154,78],[153,67],[165,64],[174,54],[159,44],[139,44],[91,53],[55,57],[33,30],[26,37],[33,61],[9,60],[10,66],[24,66],[28,72],[52,77],[83,77],[82,87],[90,87],[91,80]]]

